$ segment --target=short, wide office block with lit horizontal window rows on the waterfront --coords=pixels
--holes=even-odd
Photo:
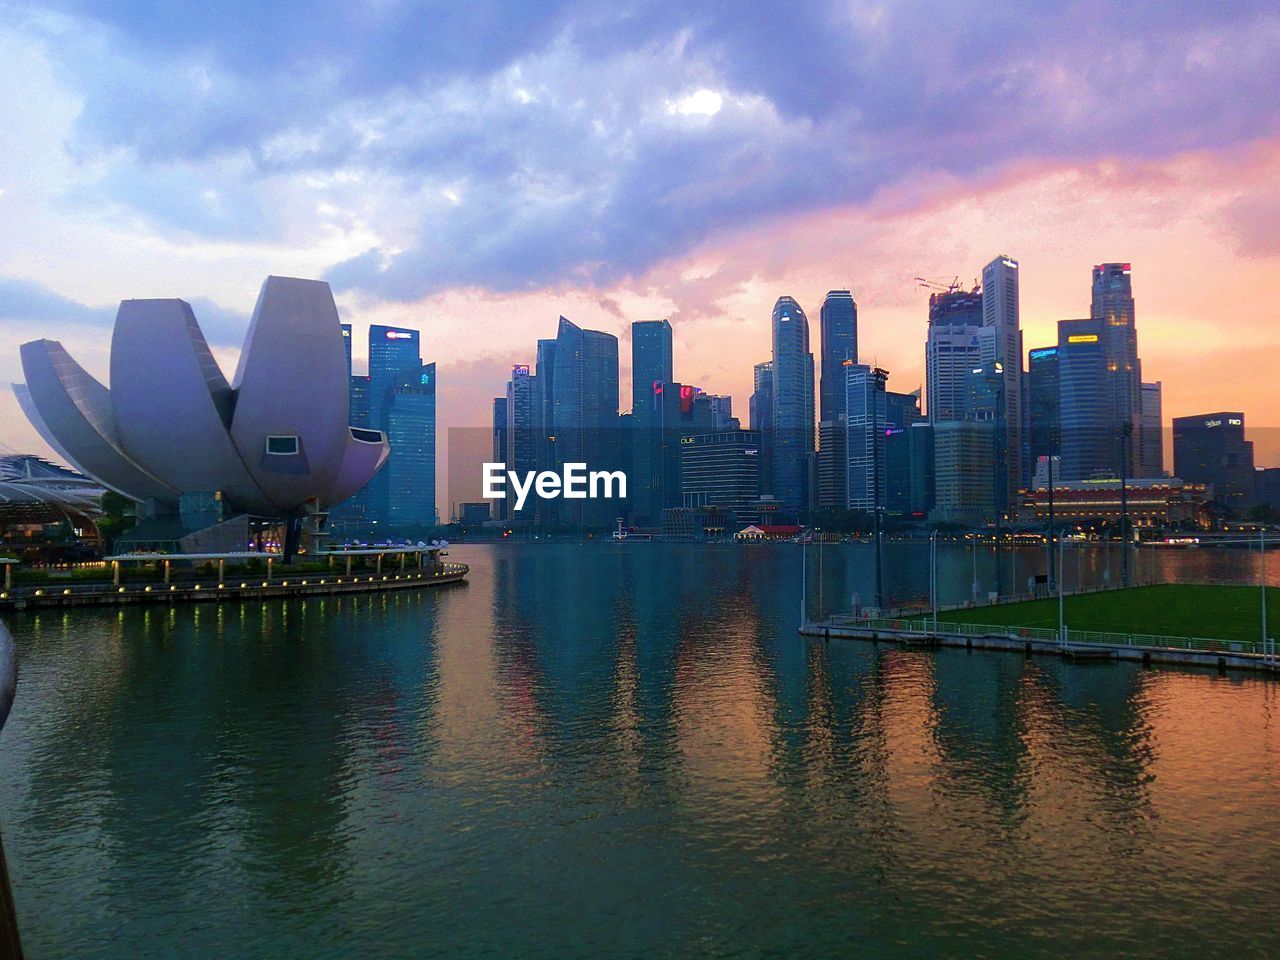
[[[680,460],[684,507],[718,507],[739,525],[759,522],[760,436],[755,430],[686,436]]]

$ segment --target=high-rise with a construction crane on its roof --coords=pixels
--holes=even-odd
[[[983,343],[993,343],[995,328],[983,334],[982,291],[947,291],[929,297],[929,333],[924,344],[924,399],[929,420],[968,416],[965,375],[982,366]],[[993,347],[988,352],[995,352]]]

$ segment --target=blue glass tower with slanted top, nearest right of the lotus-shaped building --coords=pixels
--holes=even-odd
[[[399,526],[435,524],[435,364],[402,370],[385,406],[390,456],[387,474],[387,520]]]

